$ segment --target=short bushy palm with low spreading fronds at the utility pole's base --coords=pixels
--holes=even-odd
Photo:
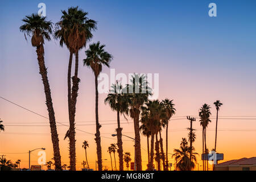
[[[180,171],[191,171],[195,168],[196,152],[193,152],[194,148],[188,146],[187,139],[183,138],[180,143],[180,149],[175,149],[172,157],[175,156],[176,168]],[[191,152],[192,151],[192,152]],[[192,160],[189,159],[189,155],[192,154]]]

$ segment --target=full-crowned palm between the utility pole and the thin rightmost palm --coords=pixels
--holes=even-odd
[[[207,144],[206,144],[206,129],[207,126],[209,124],[210,121],[210,115],[212,113],[210,113],[210,106],[207,104],[204,104],[200,110],[199,110],[199,118],[200,118],[200,125],[203,127],[202,133],[203,133],[203,169],[206,169],[206,163],[207,162],[205,160],[206,154],[206,148],[207,148]],[[207,168],[208,169],[208,168]]]

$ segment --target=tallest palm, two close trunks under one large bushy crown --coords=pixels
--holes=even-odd
[[[80,79],[78,77],[79,69],[79,50],[86,46],[86,42],[92,38],[92,31],[96,30],[96,22],[88,19],[87,12],[76,7],[69,7],[68,11],[61,11],[60,22],[56,24],[57,30],[55,37],[60,39],[60,46],[63,44],[69,49],[68,64],[68,113],[69,113],[69,158],[71,170],[76,170],[76,139],[75,139],[75,114],[77,93],[79,90]],[[72,57],[75,53],[75,75],[72,77],[71,88],[71,68]]]

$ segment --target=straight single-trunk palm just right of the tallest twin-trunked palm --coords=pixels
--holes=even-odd
[[[102,71],[102,65],[109,67],[109,63],[112,60],[112,55],[104,50],[105,45],[100,42],[90,44],[89,49],[85,51],[86,59],[84,59],[84,66],[92,69],[95,76],[95,90],[96,90],[96,144],[97,144],[97,157],[98,157],[98,170],[102,171],[102,156],[101,156],[101,137],[100,128],[101,125],[98,122],[98,75]]]

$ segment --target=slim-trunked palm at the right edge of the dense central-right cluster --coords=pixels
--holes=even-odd
[[[168,124],[172,117],[172,115],[175,114],[176,109],[174,108],[175,104],[173,104],[174,100],[168,100],[167,98],[165,100],[162,100],[162,104],[164,105],[164,109],[166,110],[166,169],[168,170]]]

